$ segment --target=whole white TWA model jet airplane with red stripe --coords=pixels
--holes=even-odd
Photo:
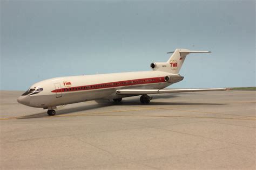
[[[151,63],[151,71],[97,75],[57,77],[33,84],[18,97],[18,102],[30,107],[48,109],[48,115],[55,115],[58,105],[91,100],[122,101],[123,97],[140,96],[141,103],[149,103],[149,94],[179,93],[192,91],[220,91],[215,89],[164,89],[183,80],[179,70],[187,54],[210,53],[176,49],[167,62]]]

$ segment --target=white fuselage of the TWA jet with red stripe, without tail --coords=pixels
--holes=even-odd
[[[41,89],[38,93],[23,95],[18,100],[22,104],[37,108],[50,108],[57,105],[77,102],[116,99],[132,95],[118,95],[118,89],[162,89],[170,86],[164,77],[171,73],[157,70],[112,74],[80,75],[57,77],[35,83],[30,89]]]

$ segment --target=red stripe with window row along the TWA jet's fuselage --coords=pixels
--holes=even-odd
[[[60,92],[69,92],[69,91],[83,91],[83,90],[104,89],[104,88],[111,88],[111,87],[133,86],[138,84],[151,84],[151,83],[161,83],[161,82],[165,82],[164,77],[151,77],[146,79],[134,79],[134,80],[101,83],[101,84],[91,84],[87,86],[61,88],[61,89],[52,90],[51,92],[60,93]]]

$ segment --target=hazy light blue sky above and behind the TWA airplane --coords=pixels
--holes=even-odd
[[[173,88],[255,86],[255,1],[2,1],[1,90],[150,70],[191,54]]]

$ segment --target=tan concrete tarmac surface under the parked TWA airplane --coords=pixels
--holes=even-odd
[[[47,110],[1,91],[1,169],[256,169],[256,91],[151,95]]]

